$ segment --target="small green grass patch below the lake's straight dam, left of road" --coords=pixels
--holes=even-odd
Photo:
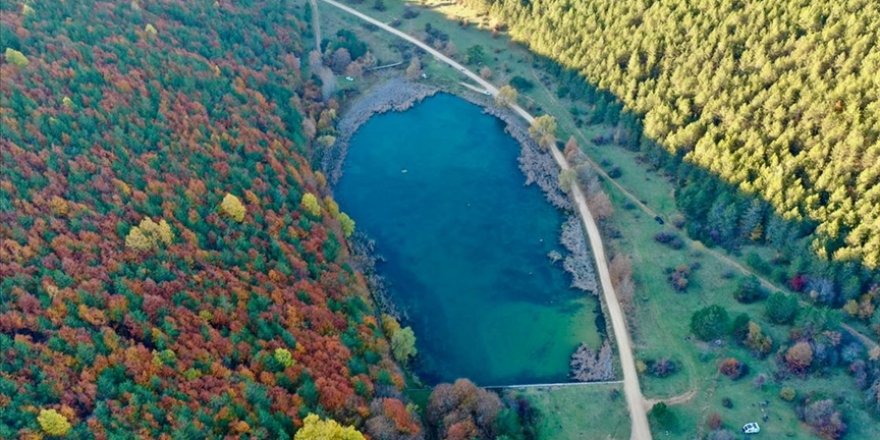
[[[528,399],[538,410],[539,438],[629,439],[629,414],[618,384],[531,388],[512,393]]]

